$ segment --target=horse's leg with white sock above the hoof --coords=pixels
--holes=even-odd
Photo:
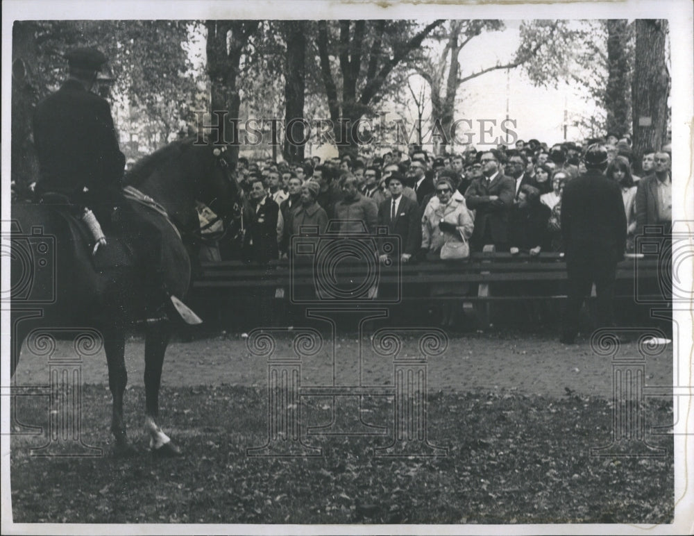
[[[146,397],[144,427],[149,433],[149,448],[153,454],[176,457],[182,455],[180,449],[168,435],[162,432],[157,424],[162,366],[170,336],[171,330],[168,322],[156,322],[146,328],[144,340],[144,393]]]

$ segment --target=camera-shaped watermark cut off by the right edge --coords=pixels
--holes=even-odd
[[[666,225],[647,225],[636,235],[634,246],[634,300],[636,303],[670,305],[692,303],[691,262],[694,261],[694,221],[676,220]],[[654,273],[655,272],[655,273]],[[655,276],[655,277],[654,277]],[[652,282],[654,278],[657,285]]]

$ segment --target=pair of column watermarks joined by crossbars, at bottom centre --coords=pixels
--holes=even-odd
[[[412,329],[400,330],[412,335]],[[439,357],[448,349],[448,337],[441,330],[414,330],[420,334],[418,354],[414,357],[400,355],[403,337],[396,330],[384,328],[373,335],[372,349],[382,358],[393,359],[392,385],[302,385],[302,360],[316,355],[323,349],[324,340],[314,329],[294,331],[291,347],[294,355],[277,355],[274,335],[288,335],[288,328],[257,329],[248,335],[248,351],[264,357],[268,367],[267,419],[268,433],[264,445],[246,449],[250,457],[296,458],[321,456],[322,449],[305,442],[306,436],[363,436],[381,433],[364,433],[363,430],[335,433],[335,405],[333,418],[328,426],[307,426],[303,422],[302,399],[310,396],[385,396],[393,400],[390,426],[391,443],[375,449],[377,457],[445,456],[448,449],[435,446],[428,437],[427,403],[428,359]],[[362,337],[359,337],[361,345]],[[361,352],[361,349],[359,350]],[[377,427],[373,427],[377,428]],[[303,435],[303,431],[307,432]]]

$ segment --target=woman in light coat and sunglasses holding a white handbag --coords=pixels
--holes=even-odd
[[[434,198],[427,204],[422,217],[422,250],[430,259],[462,259],[470,256],[468,240],[473,234],[475,218],[456,190],[455,181],[448,176],[439,178]],[[464,296],[468,285],[432,285],[432,297]],[[441,325],[455,326],[457,307],[441,301]]]

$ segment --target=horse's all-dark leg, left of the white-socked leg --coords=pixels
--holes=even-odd
[[[128,372],[125,361],[126,336],[119,328],[103,330],[103,348],[108,362],[108,387],[113,396],[113,413],[111,417],[111,433],[115,437],[114,454],[117,457],[136,453],[128,441],[126,424],[123,416],[123,396],[128,383]]]

